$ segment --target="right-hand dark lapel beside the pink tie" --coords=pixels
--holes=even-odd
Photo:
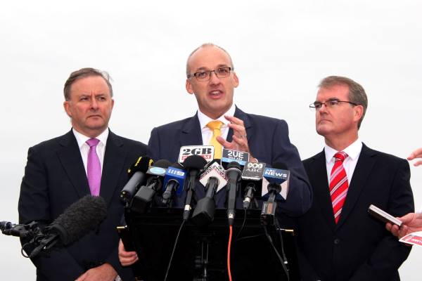
[[[110,131],[104,154],[100,188],[100,195],[106,200],[107,204],[111,202],[115,189],[117,188],[120,174],[122,169],[124,169],[126,155],[127,151],[123,149],[122,140]]]

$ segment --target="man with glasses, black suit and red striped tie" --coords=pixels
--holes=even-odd
[[[396,281],[411,247],[369,216],[369,205],[403,216],[414,210],[409,164],[368,148],[358,131],[368,100],[361,85],[326,77],[314,103],[322,152],[303,161],[313,188],[312,207],[298,219],[302,280]]]

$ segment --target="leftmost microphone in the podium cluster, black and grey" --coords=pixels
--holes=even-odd
[[[143,184],[146,180],[146,171],[153,164],[153,159],[150,157],[139,157],[138,160],[127,169],[129,181],[124,185],[120,192],[120,200],[125,207],[129,206],[132,197],[138,190],[139,185]]]

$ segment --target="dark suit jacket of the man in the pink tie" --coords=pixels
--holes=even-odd
[[[143,143],[109,132],[100,190],[108,216],[95,232],[68,247],[56,247],[50,256],[39,254],[32,259],[37,267],[37,280],[75,280],[101,263],[110,263],[124,280],[132,277],[132,270],[120,266],[115,227],[120,225],[123,215],[120,190],[127,182],[127,168],[137,157],[146,154]],[[88,194],[87,174],[72,131],[29,149],[20,186],[20,223],[49,224],[70,204]]]

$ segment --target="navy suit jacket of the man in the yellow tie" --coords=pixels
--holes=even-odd
[[[278,211],[292,216],[304,214],[311,204],[310,185],[300,162],[298,150],[288,138],[288,125],[284,120],[250,115],[236,107],[235,117],[245,124],[249,149],[260,162],[272,164],[283,162],[290,170],[290,190],[288,200],[281,202]],[[233,130],[229,130],[227,141],[232,141]],[[180,147],[183,145],[202,145],[203,139],[198,115],[177,122],[165,124],[151,131],[148,147],[153,159],[168,159],[177,162]],[[224,204],[225,192],[217,195],[217,206]],[[196,188],[198,198],[204,190]]]

